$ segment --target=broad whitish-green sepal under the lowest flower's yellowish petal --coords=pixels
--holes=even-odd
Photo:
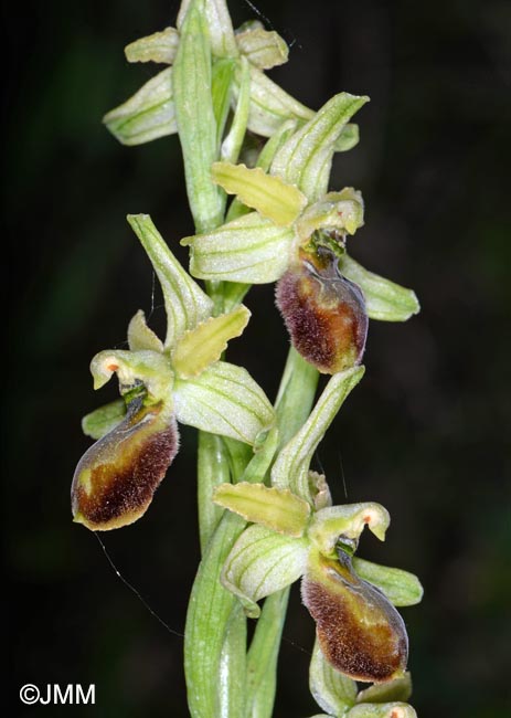
[[[265,526],[251,526],[234,545],[222,571],[223,585],[235,593],[253,619],[257,601],[300,578],[308,552],[307,539],[276,534]]]

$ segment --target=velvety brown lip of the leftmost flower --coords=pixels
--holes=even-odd
[[[163,403],[128,405],[125,419],[82,456],[71,487],[74,520],[92,530],[132,524],[147,510],[179,446]]]

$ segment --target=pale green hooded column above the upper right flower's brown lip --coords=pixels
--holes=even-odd
[[[362,194],[351,187],[341,192],[328,192],[321,200],[306,209],[296,230],[301,241],[316,230],[354,234],[364,223]]]

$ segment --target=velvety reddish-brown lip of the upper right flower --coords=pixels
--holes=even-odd
[[[365,299],[339,272],[332,252],[301,252],[278,282],[276,299],[292,346],[319,371],[333,374],[360,363],[368,336]]]

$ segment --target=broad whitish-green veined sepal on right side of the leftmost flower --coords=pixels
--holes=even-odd
[[[193,379],[177,380],[173,399],[178,421],[212,434],[254,444],[274,422],[264,391],[241,367],[217,361]]]

